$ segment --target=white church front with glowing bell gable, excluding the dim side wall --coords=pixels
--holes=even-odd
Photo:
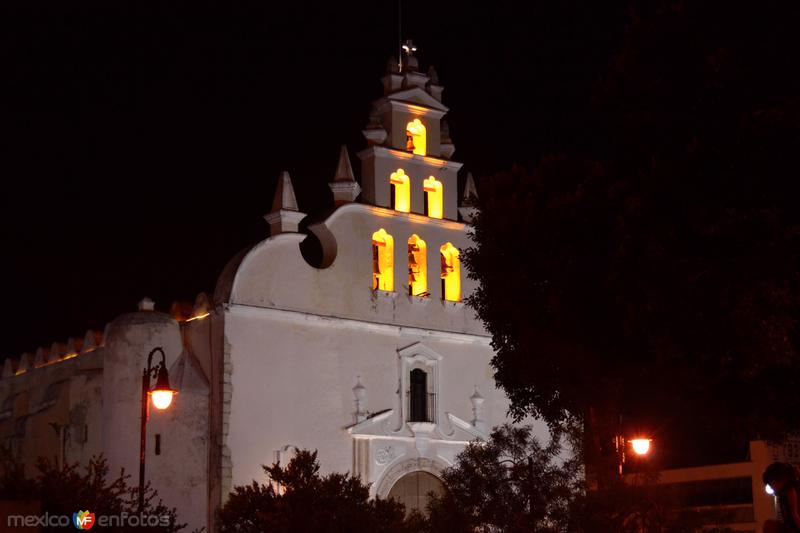
[[[506,420],[490,337],[463,302],[475,288],[461,266],[472,211],[459,205],[448,109],[435,72],[415,61],[384,77],[360,184],[343,148],[336,208],[301,231],[284,174],[272,235],[220,278],[222,494],[309,448],[323,470],[358,474],[373,495],[424,503],[393,487],[419,472],[435,485],[466,443]]]

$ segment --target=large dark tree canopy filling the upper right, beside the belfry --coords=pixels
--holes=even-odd
[[[780,438],[800,428],[800,9],[631,13],[589,145],[481,183],[465,255],[498,383],[551,424]]]

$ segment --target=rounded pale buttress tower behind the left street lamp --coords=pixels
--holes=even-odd
[[[129,483],[139,482],[139,435],[142,370],[150,351],[166,354],[171,385],[181,389],[165,411],[150,409],[147,424],[145,480],[189,530],[207,526],[208,510],[208,390],[189,370],[176,376],[186,357],[178,323],[169,315],[139,311],[122,315],[108,328],[103,368],[103,450],[112,474],[124,469]],[[153,364],[160,362],[156,354]],[[181,387],[184,382],[186,385]],[[155,380],[152,381],[155,383]],[[161,435],[161,453],[155,453]]]

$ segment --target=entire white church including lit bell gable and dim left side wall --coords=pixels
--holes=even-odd
[[[2,444],[31,468],[39,455],[102,453],[112,472],[135,474],[142,370],[162,347],[178,394],[150,411],[146,478],[190,529],[213,531],[233,486],[298,449],[318,450],[323,471],[360,476],[372,496],[424,507],[464,446],[506,421],[508,402],[464,303],[475,185],[469,176],[459,194],[442,87],[407,52],[373,104],[360,181],[342,147],[331,210],[302,213],[283,173],[269,237],[194,309],[161,313],[145,299],[103,333],[7,359]]]

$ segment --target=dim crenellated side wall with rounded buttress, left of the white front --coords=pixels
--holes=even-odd
[[[211,304],[198,297],[189,314],[172,316],[152,301],[122,315],[105,333],[53,343],[34,355],[7,359],[0,379],[0,444],[25,464],[27,476],[47,457],[85,465],[104,455],[109,477],[124,470],[138,484],[142,372],[155,347],[166,354],[178,394],[166,411],[150,410],[146,479],[189,530],[206,527],[209,515],[209,375],[213,375]],[[206,320],[208,319],[208,320]],[[156,453],[158,435],[160,450]]]

